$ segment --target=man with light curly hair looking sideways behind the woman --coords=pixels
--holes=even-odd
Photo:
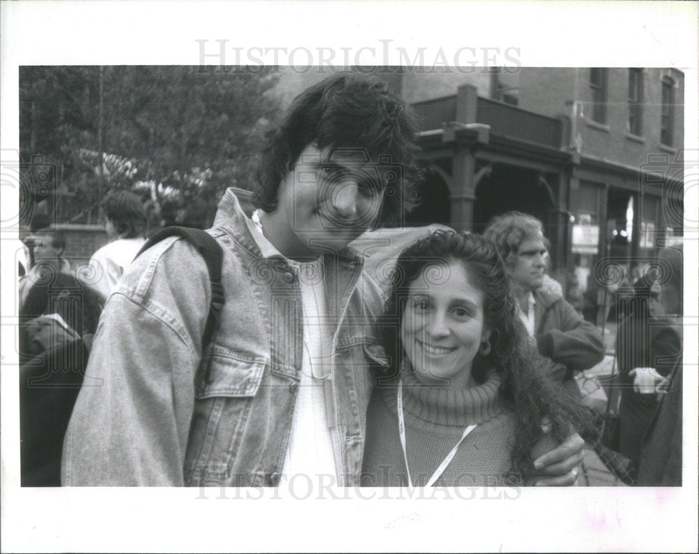
[[[549,263],[544,226],[531,215],[508,212],[493,218],[483,235],[498,245],[510,270],[519,317],[539,352],[554,361],[554,377],[579,398],[573,376],[603,360],[604,341],[561,295],[542,287]]]

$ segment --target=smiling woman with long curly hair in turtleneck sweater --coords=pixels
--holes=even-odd
[[[405,249],[379,333],[391,364],[368,409],[363,486],[534,484],[533,460],[586,427],[479,235],[437,231]]]

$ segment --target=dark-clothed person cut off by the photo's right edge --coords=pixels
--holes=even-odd
[[[660,396],[641,446],[636,485],[682,486],[682,246],[663,248],[658,259],[669,275],[659,283],[665,314],[655,331],[656,340],[665,342],[665,355],[654,361],[670,371],[663,377],[653,367],[633,370],[635,390]]]

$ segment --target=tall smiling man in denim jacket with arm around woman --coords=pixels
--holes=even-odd
[[[415,139],[375,78],[298,96],[262,157],[261,209],[246,217],[226,191],[209,231],[226,298],[211,344],[209,275],[188,242],[159,242],[117,284],[87,368],[104,386],[80,393],[64,485],[359,484],[369,369],[385,359],[380,295],[347,245],[412,205]],[[571,482],[581,449],[545,460],[552,484]]]

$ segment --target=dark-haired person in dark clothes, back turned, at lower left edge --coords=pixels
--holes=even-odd
[[[63,437],[101,309],[101,296],[66,273],[27,291],[19,314],[22,486],[61,484]]]

